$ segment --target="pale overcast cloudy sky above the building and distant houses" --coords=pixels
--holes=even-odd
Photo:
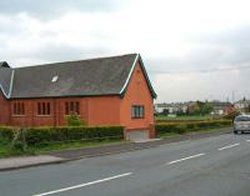
[[[156,102],[250,99],[249,0],[1,0],[13,67],[140,53]]]

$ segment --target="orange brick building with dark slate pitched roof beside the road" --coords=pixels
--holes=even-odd
[[[156,93],[139,54],[12,68],[0,63],[0,124],[123,125],[154,136]]]

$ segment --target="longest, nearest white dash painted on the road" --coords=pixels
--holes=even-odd
[[[92,181],[92,182],[87,182],[87,183],[83,183],[83,184],[79,184],[79,185],[75,185],[75,186],[70,186],[70,187],[57,189],[57,190],[54,190],[54,191],[38,193],[38,194],[35,194],[33,196],[53,195],[53,194],[56,194],[56,193],[61,193],[61,192],[65,192],[65,191],[69,191],[69,190],[73,190],[73,189],[79,189],[79,188],[83,188],[83,187],[86,187],[86,186],[99,184],[99,183],[102,183],[102,182],[107,182],[107,181],[110,181],[110,180],[114,180],[114,179],[117,179],[117,178],[122,178],[122,177],[129,176],[129,175],[132,175],[132,174],[133,174],[132,172],[128,172],[128,173],[119,174],[119,175],[116,175],[116,176],[111,176],[111,177],[108,177],[108,178],[103,178],[103,179],[100,179],[100,180],[95,180],[95,181]]]

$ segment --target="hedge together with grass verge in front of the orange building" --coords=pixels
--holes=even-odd
[[[0,157],[120,143],[123,131],[121,126],[0,127]]]

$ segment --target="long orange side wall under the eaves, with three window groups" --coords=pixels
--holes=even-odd
[[[0,124],[13,126],[62,126],[66,125],[65,102],[80,103],[80,118],[89,125],[119,125],[119,96],[86,97],[86,98],[48,98],[48,99],[12,99],[0,96]],[[23,102],[25,115],[13,115],[15,102]],[[50,115],[38,115],[37,103],[49,102]]]

